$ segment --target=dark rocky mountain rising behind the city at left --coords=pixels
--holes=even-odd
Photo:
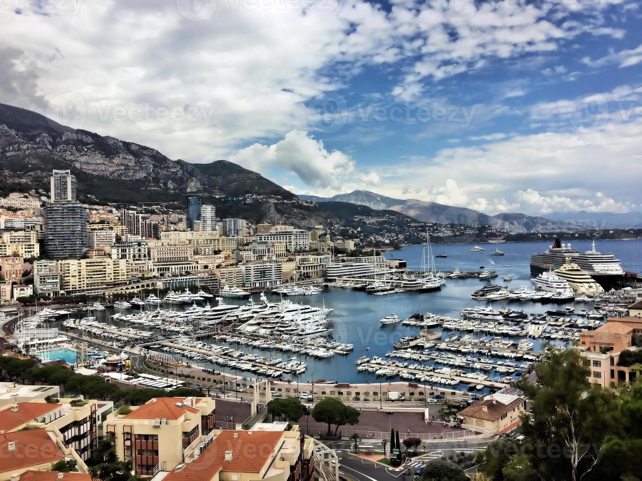
[[[336,222],[333,215],[227,160],[210,164],[171,160],[153,148],[69,128],[30,110],[0,104],[0,190],[48,191],[53,169],[72,171],[83,201],[183,201],[190,193],[214,203],[220,215],[244,213],[256,222],[278,220],[297,226]],[[240,196],[246,196],[242,203],[234,200]]]

